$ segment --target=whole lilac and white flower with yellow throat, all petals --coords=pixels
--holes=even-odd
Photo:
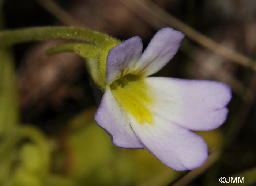
[[[147,148],[177,171],[206,161],[206,142],[190,130],[222,125],[231,99],[229,86],[221,82],[148,77],[169,62],[183,38],[181,32],[163,28],[143,54],[138,36],[110,49],[106,91],[94,117],[116,146]]]

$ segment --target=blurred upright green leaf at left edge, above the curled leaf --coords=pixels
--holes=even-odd
[[[0,49],[0,136],[17,123],[14,60],[10,51]]]

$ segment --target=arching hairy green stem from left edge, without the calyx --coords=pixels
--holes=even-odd
[[[75,27],[32,27],[0,32],[0,47],[11,46],[16,43],[52,40],[76,39],[105,45],[116,42],[117,39],[97,31]]]

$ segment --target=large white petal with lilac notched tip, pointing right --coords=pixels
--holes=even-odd
[[[195,131],[218,128],[224,123],[231,99],[228,85],[207,80],[148,77],[154,91],[152,112]]]

